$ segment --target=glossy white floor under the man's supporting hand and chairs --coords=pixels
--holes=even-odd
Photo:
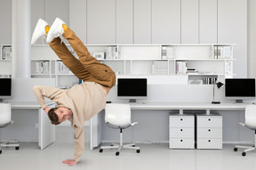
[[[4,149],[0,155],[0,169],[256,170],[256,151],[243,157],[241,151],[233,151],[231,144],[224,145],[223,150],[169,150],[166,143],[138,144],[140,153],[124,150],[116,157],[116,150],[90,151],[88,137],[81,161],[68,167],[61,161],[73,157],[74,143],[70,136],[59,133],[56,143],[44,151],[38,149],[37,143],[20,143],[20,151]]]

